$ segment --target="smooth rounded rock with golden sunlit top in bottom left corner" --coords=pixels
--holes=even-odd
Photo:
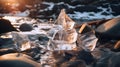
[[[0,56],[0,66],[2,67],[40,67],[40,64],[33,61],[31,57],[22,54],[17,57],[17,53]]]

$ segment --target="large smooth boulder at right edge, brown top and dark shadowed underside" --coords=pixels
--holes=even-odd
[[[99,39],[120,39],[120,17],[113,18],[95,29],[96,37]]]

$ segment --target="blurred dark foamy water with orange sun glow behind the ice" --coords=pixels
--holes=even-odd
[[[29,16],[49,20],[56,19],[64,8],[73,20],[87,21],[117,17],[120,15],[119,7],[120,0],[0,0],[0,16]]]

